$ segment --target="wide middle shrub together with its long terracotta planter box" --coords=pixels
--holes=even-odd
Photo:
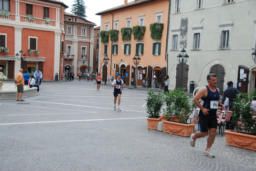
[[[163,120],[163,132],[189,137],[193,133],[195,124],[187,123],[189,114],[195,108],[191,96],[187,96],[185,88],[174,89],[171,93],[166,93],[164,101],[166,103],[165,118]]]

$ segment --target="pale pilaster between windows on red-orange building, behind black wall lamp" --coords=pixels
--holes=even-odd
[[[15,35],[15,54],[19,54],[19,51],[22,50],[21,49],[21,43],[22,43],[22,29],[23,28],[18,28],[15,27],[14,28],[14,35]],[[23,51],[25,51],[25,49],[23,49]],[[15,59],[15,67],[14,67],[14,77],[15,75],[19,72],[20,70],[20,60]]]

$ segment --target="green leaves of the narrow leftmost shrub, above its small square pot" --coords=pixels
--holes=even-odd
[[[147,113],[149,118],[159,118],[160,110],[163,106],[163,93],[154,94],[150,88],[148,91],[147,101]]]

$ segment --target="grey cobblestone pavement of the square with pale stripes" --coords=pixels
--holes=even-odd
[[[125,88],[113,110],[111,86],[46,83],[24,102],[0,101],[0,171],[252,171],[256,152],[225,145],[218,133],[203,155],[189,137],[148,130],[147,91]],[[195,126],[195,131],[197,131]],[[253,169],[254,168],[254,169]]]

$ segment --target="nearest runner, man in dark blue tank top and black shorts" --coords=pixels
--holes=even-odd
[[[210,148],[214,142],[216,129],[218,125],[217,121],[217,109],[218,106],[221,110],[224,109],[224,105],[220,103],[219,89],[216,88],[217,76],[215,74],[207,75],[208,85],[202,88],[194,98],[195,104],[200,108],[199,111],[199,125],[200,131],[190,135],[190,145],[195,146],[195,140],[197,138],[205,137],[209,129],[209,137],[207,138],[207,146],[204,151],[204,155],[209,157],[215,157],[210,153]],[[201,105],[199,100],[204,100],[204,104]]]

